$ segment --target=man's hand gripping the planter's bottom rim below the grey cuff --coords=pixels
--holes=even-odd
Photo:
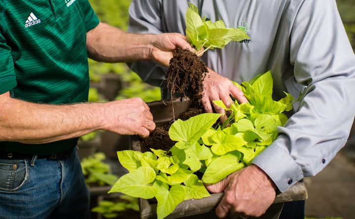
[[[260,217],[276,196],[274,182],[254,164],[232,173],[216,184],[206,185],[206,188],[213,193],[224,191],[215,210],[218,218]]]

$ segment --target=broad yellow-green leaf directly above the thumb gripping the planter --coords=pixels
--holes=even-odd
[[[240,157],[240,152],[236,151],[217,157],[207,167],[202,181],[204,183],[217,183],[229,174],[240,170],[245,166],[244,163],[239,163]]]

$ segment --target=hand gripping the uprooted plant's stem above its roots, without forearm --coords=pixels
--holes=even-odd
[[[186,41],[186,36],[180,33],[161,33],[155,35],[152,44],[154,46],[151,52],[153,60],[165,66],[169,66],[170,59],[174,55],[174,50],[178,47],[181,49],[188,48],[192,52],[195,51]]]

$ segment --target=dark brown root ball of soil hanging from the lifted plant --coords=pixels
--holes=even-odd
[[[208,69],[195,53],[188,49],[175,50],[166,75],[166,87],[172,97],[179,94],[200,101],[203,96],[203,81]]]

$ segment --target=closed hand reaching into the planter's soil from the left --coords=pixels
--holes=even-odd
[[[155,123],[149,107],[141,98],[116,100],[107,104],[106,130],[124,135],[149,136]]]

